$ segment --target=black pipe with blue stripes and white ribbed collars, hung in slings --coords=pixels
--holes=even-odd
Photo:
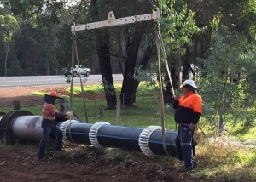
[[[166,130],[166,149],[163,147],[161,128],[131,128],[112,126],[108,122],[95,124],[63,122],[61,130],[68,142],[94,145],[95,147],[117,147],[129,151],[143,151],[145,155],[170,155],[183,159],[177,132]]]

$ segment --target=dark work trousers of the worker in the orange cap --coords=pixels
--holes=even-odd
[[[49,140],[49,135],[54,134],[55,136],[55,150],[61,150],[63,133],[60,128],[44,127],[42,139],[39,143],[38,159],[44,158],[45,144]]]

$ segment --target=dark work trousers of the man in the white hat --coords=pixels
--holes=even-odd
[[[194,132],[189,129],[189,125],[178,126],[178,138],[183,152],[184,165],[187,168],[193,167],[193,134]]]

